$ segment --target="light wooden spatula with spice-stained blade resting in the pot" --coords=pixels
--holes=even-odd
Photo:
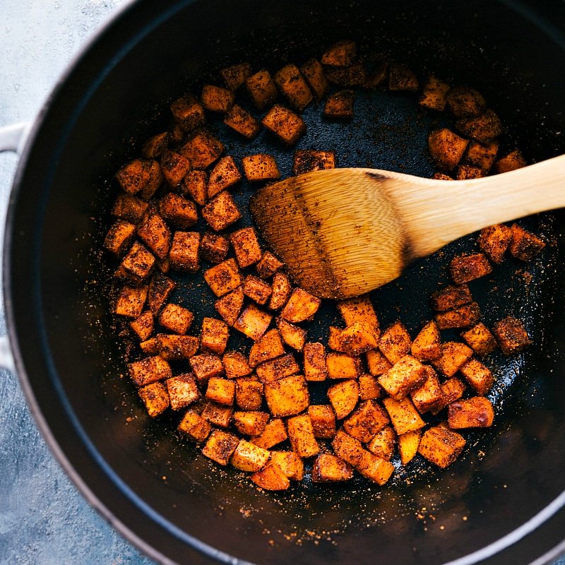
[[[410,261],[463,235],[565,206],[564,179],[565,155],[464,181],[328,169],[265,186],[250,206],[297,285],[346,298],[390,282]]]

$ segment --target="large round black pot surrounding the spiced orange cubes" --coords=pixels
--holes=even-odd
[[[6,227],[4,297],[37,423],[119,532],[163,563],[517,564],[565,550],[561,213],[526,220],[549,239],[529,285],[518,285],[513,266],[501,278],[500,285],[511,280],[504,292],[477,287],[492,295],[487,321],[519,315],[535,340],[525,354],[500,360],[495,427],[471,434],[474,449],[447,470],[416,466],[408,481],[382,488],[356,480],[261,492],[198,456],[171,422],[150,420],[124,376],[103,292],[109,268],[96,252],[114,172],[169,123],[169,102],[221,66],[249,59],[275,70],[352,37],[422,75],[472,77],[509,124],[511,143],[535,161],[565,150],[564,31],[561,2],[141,0],[90,44],[23,150]],[[411,138],[405,133],[396,148]],[[354,151],[344,161],[399,166],[388,150],[379,153],[375,136],[366,143],[371,162],[355,162]],[[402,166],[432,171],[428,157]],[[397,306],[417,328],[424,317],[417,304],[441,276],[431,258],[376,295],[383,323]]]

